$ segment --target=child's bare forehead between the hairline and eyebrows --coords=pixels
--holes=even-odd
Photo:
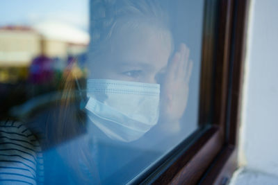
[[[122,28],[111,43],[111,54],[120,62],[166,65],[171,51],[170,32],[147,25]]]

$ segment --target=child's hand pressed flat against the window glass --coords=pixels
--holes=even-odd
[[[189,60],[190,50],[186,44],[179,46],[169,62],[165,79],[161,85],[161,119],[166,128],[176,130],[179,128],[179,119],[186,109],[188,100],[188,84],[193,68]]]

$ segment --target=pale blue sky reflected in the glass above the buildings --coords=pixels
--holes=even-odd
[[[0,26],[63,21],[88,30],[90,0],[1,0]]]

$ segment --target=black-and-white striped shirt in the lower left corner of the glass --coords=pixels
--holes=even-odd
[[[0,122],[0,184],[43,184],[42,150],[22,123]]]

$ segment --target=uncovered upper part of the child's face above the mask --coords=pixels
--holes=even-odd
[[[172,49],[170,33],[144,26],[121,30],[108,55],[91,65],[89,78],[159,83]]]

